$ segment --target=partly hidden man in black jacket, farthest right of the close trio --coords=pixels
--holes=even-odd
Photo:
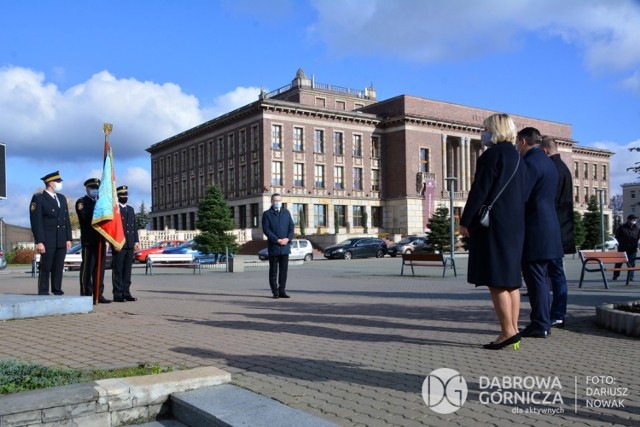
[[[576,253],[576,242],[573,236],[573,180],[571,171],[560,158],[555,139],[544,136],[540,147],[549,156],[558,171],[556,213],[560,222],[562,250],[565,255],[574,254]],[[552,328],[563,328],[564,318],[567,314],[568,289],[563,261],[563,258],[554,258],[548,264],[549,281],[553,294],[550,312]]]

